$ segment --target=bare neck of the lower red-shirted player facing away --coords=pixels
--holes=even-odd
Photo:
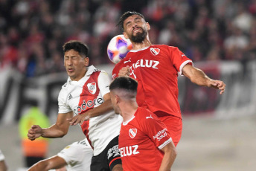
[[[137,109],[137,103],[124,104],[124,106],[121,107],[121,116],[123,117],[124,122],[130,120],[134,116]]]

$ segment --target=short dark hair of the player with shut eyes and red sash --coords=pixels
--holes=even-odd
[[[70,50],[77,51],[82,57],[88,57],[89,48],[83,42],[79,42],[77,40],[65,42],[63,45],[63,52],[65,53],[66,51]]]

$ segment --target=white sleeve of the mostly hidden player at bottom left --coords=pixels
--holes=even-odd
[[[93,151],[92,148],[81,144],[80,141],[68,145],[57,154],[60,158],[63,158],[67,164],[74,165],[77,162],[83,160],[91,160]]]

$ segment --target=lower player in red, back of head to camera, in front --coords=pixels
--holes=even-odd
[[[118,142],[123,169],[170,170],[176,148],[156,114],[138,107],[137,86],[130,77],[118,77],[109,86],[115,113],[124,118]]]

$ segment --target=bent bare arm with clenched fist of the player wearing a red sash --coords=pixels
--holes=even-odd
[[[44,138],[61,138],[68,133],[69,123],[68,118],[73,116],[73,112],[58,114],[57,121],[49,128],[41,128],[38,125],[31,126],[28,130],[28,139],[31,141],[39,137]]]

